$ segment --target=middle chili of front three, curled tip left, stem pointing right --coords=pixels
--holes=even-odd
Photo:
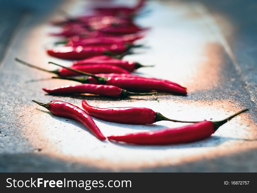
[[[105,121],[124,124],[152,124],[157,121],[173,121],[182,123],[192,123],[188,121],[178,121],[164,117],[159,112],[144,107],[110,107],[99,108],[88,105],[86,100],[82,101],[82,108],[91,116]]]

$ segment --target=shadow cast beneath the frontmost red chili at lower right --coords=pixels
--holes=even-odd
[[[222,137],[222,136],[210,136],[207,139],[200,141],[184,143],[184,144],[171,144],[171,145],[136,145],[128,144],[125,142],[119,142],[114,140],[109,140],[110,143],[117,146],[131,148],[131,149],[156,149],[156,150],[166,150],[166,149],[183,149],[183,148],[199,148],[199,147],[216,147],[220,144],[230,141],[230,140],[244,140],[244,141],[257,141],[257,139],[240,139],[240,138],[231,138],[231,137]]]

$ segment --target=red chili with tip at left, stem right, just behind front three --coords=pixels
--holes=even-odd
[[[79,84],[79,85],[66,85],[66,86],[58,86],[55,88],[42,88],[49,94],[58,94],[58,95],[70,95],[70,94],[95,94],[95,95],[105,95],[111,96],[115,98],[124,98],[127,96],[135,96],[135,95],[152,95],[156,94],[156,92],[152,93],[133,93],[127,90],[121,89],[117,86],[112,85],[101,85],[101,84]]]

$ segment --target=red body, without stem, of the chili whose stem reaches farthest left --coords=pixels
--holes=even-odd
[[[98,73],[118,73],[118,74],[129,74],[129,71],[120,68],[118,66],[108,65],[108,64],[92,64],[92,65],[76,65],[72,66],[72,69],[77,69],[83,72],[88,72],[91,74]],[[58,69],[59,76],[79,76],[77,72],[67,70],[65,68]]]

